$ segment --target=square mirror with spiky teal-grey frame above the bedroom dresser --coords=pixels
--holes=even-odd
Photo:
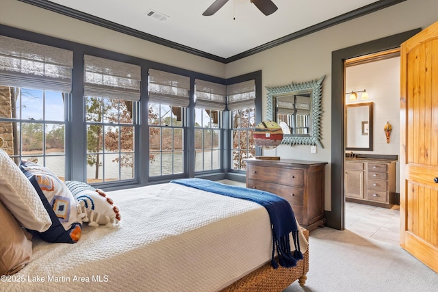
[[[283,129],[281,144],[318,145],[324,148],[320,142],[324,77],[303,83],[266,88],[268,90],[266,116],[279,123]]]

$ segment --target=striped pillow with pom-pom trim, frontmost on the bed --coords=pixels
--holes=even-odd
[[[108,198],[105,191],[96,189],[81,181],[66,181],[68,189],[77,200],[86,217],[83,222],[97,227],[99,225],[116,226],[121,220],[120,211],[111,198]]]

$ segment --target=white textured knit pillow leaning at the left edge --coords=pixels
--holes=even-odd
[[[20,168],[0,149],[0,200],[21,226],[39,232],[52,222],[36,190]]]

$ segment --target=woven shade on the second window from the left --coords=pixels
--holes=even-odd
[[[83,94],[140,101],[140,66],[83,55]]]

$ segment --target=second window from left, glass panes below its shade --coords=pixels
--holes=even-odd
[[[134,103],[86,96],[88,183],[135,177]]]

